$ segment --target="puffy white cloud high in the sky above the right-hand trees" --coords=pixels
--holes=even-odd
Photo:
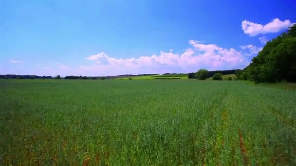
[[[262,25],[258,23],[254,23],[248,20],[244,20],[241,22],[241,28],[245,34],[249,34],[250,36],[256,36],[258,34],[265,33],[277,33],[283,29],[286,29],[292,26],[293,23],[289,19],[284,21],[279,20],[278,18],[273,19],[271,22]]]

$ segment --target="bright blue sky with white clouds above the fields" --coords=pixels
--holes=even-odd
[[[1,0],[0,74],[244,68],[295,11],[295,0]]]

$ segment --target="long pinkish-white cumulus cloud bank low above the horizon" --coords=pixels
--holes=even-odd
[[[117,59],[105,52],[86,57],[96,62],[93,66],[79,66],[80,70],[101,75],[142,74],[165,72],[192,72],[199,68],[230,69],[244,67],[249,61],[235,49],[221,48],[215,44],[202,44],[189,40],[191,48],[181,54],[160,51],[158,55],[141,56],[138,58]]]

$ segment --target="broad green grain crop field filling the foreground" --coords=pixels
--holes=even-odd
[[[296,90],[0,80],[0,165],[296,165]]]

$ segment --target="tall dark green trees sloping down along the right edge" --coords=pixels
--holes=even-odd
[[[251,64],[236,76],[255,83],[296,82],[296,24],[267,42]]]

